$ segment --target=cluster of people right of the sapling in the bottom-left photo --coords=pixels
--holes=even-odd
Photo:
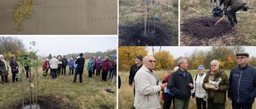
[[[51,60],[46,58],[42,64],[42,71],[45,74],[44,76],[47,75],[49,68],[52,79],[56,79],[57,75],[61,74],[60,72],[62,72],[62,75],[66,75],[66,66],[68,64],[70,70],[69,75],[74,75],[73,82],[76,83],[77,76],[79,76],[79,82],[82,83],[82,74],[86,61],[82,56],[83,54],[80,53],[75,60],[73,57],[70,57],[70,61],[66,59],[66,56],[63,56],[63,58],[58,56],[58,59],[56,56],[53,56]],[[106,56],[104,60],[101,59],[101,56],[98,56],[98,59],[96,59],[96,56],[90,56],[87,64],[88,77],[92,78],[92,76],[95,75],[95,70],[96,76],[100,76],[102,71],[102,81],[106,81],[107,74],[110,72],[110,76],[112,76],[110,78],[112,79],[112,83],[114,83],[117,75],[116,67],[116,60],[110,60],[108,56]]]

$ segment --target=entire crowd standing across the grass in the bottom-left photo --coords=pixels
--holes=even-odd
[[[2,76],[2,84],[8,82],[8,75],[9,75],[9,66],[10,72],[12,73],[12,81],[13,83],[18,82],[18,78],[16,77],[19,72],[19,65],[16,61],[15,56],[11,56],[10,64],[6,64],[6,60],[4,59],[3,55],[0,55],[0,75]],[[68,65],[69,68],[69,75],[74,76],[73,82],[76,83],[77,76],[79,76],[79,82],[82,83],[82,76],[85,68],[86,59],[83,57],[83,54],[80,53],[75,59],[74,57],[70,57],[69,59],[66,56],[53,56],[52,59],[46,58],[46,60],[42,63],[42,76],[47,76],[48,72],[50,71],[51,78],[57,79],[57,76],[66,75],[66,66]],[[27,55],[24,56],[24,71],[26,72],[26,78],[30,78],[30,59]],[[91,56],[88,64],[87,64],[87,71],[88,77],[92,78],[93,75],[95,76],[102,76],[102,82],[106,82],[107,76],[109,73],[109,80],[111,79],[112,83],[116,81],[117,78],[117,62],[113,58],[110,60],[108,56],[101,59],[101,56]],[[96,70],[96,73],[94,73]],[[102,75],[100,75],[102,72]]]

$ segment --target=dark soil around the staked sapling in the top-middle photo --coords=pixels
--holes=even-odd
[[[144,24],[136,24],[130,27],[119,26],[119,45],[121,46],[170,46],[172,45],[172,31],[164,25],[150,25],[150,30],[144,37]]]

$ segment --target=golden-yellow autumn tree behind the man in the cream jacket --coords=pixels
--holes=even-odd
[[[135,64],[135,57],[147,55],[148,50],[145,46],[121,46],[118,47],[118,68],[119,70],[130,69],[132,64]]]

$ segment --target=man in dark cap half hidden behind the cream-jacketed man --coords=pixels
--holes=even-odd
[[[142,68],[142,56],[141,55],[136,56],[135,64],[133,64],[130,67],[130,75],[129,75],[130,87],[133,87],[134,76],[135,76],[136,72],[139,70],[139,68]],[[134,85],[134,96],[135,96],[135,85]]]

